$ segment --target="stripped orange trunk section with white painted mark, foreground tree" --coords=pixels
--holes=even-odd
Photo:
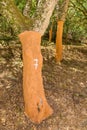
[[[23,48],[25,113],[34,123],[40,123],[53,112],[47,103],[43,88],[41,35],[35,31],[25,31],[19,37]]]

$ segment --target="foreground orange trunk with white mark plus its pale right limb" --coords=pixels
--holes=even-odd
[[[42,3],[43,6],[38,5],[33,16],[34,23],[30,27],[32,31],[19,35],[23,47],[25,113],[34,123],[40,123],[53,113],[47,103],[43,88],[40,41],[49,24],[57,0],[44,0]]]

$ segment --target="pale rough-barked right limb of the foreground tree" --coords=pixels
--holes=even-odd
[[[40,32],[41,35],[44,34],[57,1],[58,0],[42,0],[42,4],[38,6],[36,13],[33,16],[33,30]]]

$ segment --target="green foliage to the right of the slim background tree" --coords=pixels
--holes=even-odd
[[[73,40],[87,38],[87,1],[71,0],[64,26],[64,37],[71,35]]]

